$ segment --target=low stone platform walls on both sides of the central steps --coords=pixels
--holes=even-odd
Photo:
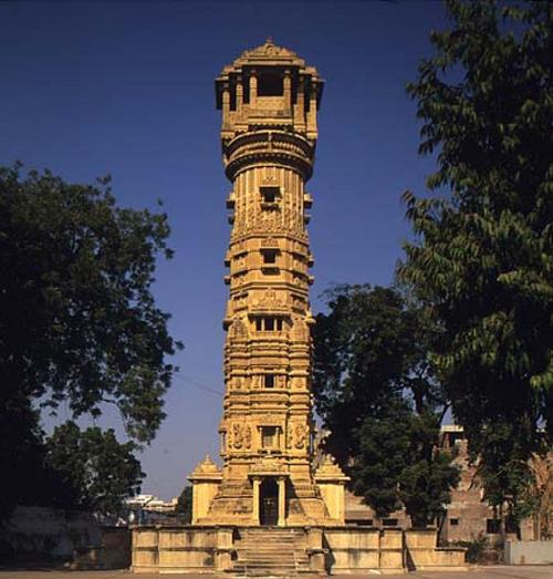
[[[231,572],[239,527],[147,526],[133,528],[135,572]],[[435,529],[301,527],[310,571],[397,573],[414,569],[462,570],[465,549],[439,549]]]

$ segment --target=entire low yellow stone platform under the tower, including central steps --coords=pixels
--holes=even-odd
[[[432,529],[140,526],[133,529],[132,570],[309,577],[466,569],[463,549],[436,544]]]

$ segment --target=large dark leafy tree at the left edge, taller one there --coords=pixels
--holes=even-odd
[[[114,404],[131,438],[154,437],[179,347],[152,294],[168,235],[165,214],[117,207],[108,179],[0,167],[0,517],[31,496],[41,407]]]

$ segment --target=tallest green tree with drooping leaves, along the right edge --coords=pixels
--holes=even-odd
[[[487,498],[514,514],[525,466],[553,435],[553,7],[447,2],[449,30],[408,86],[429,198],[400,276],[441,338],[434,361]]]

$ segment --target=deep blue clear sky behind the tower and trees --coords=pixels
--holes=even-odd
[[[409,235],[399,196],[421,194],[432,170],[405,84],[444,25],[438,1],[0,3],[0,164],[83,183],[109,173],[122,206],[161,198],[170,217],[176,257],[160,262],[155,294],[186,349],[142,455],[144,492],[177,495],[218,454],[230,184],[213,79],[272,35],[326,81],[307,187],[319,311],[331,283],[392,280]]]

